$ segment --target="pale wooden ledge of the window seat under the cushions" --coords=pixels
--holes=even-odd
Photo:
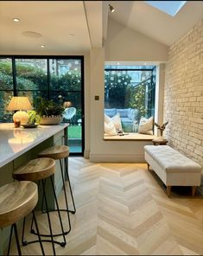
[[[104,134],[104,140],[151,141],[154,138],[157,138],[157,136],[155,136],[155,135],[148,135],[148,134],[141,134],[141,133],[135,133],[135,132],[128,132],[128,133],[124,132],[123,136]]]

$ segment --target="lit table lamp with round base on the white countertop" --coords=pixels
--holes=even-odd
[[[17,112],[13,115],[14,122],[16,120],[21,121],[21,125],[27,124],[29,121],[29,114],[23,110],[31,110],[32,106],[28,97],[13,97],[10,100],[10,104],[7,107],[9,111]]]

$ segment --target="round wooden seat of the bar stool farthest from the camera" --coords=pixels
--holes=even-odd
[[[55,160],[63,159],[69,156],[69,147],[65,145],[55,145],[55,146],[49,147],[46,150],[42,150],[39,153],[39,156],[50,157]]]

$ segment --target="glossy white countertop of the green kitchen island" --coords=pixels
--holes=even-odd
[[[38,125],[36,128],[14,128],[14,124],[0,124],[0,167],[62,131],[68,124]]]

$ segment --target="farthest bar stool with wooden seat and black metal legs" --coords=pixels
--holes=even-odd
[[[68,174],[68,168],[67,168],[67,157],[69,157],[69,147],[66,146],[66,145],[54,145],[52,147],[49,147],[46,150],[42,150],[39,153],[39,157],[49,157],[49,158],[53,158],[54,160],[60,160],[60,173],[61,173],[61,177],[62,177],[63,190],[64,190],[65,202],[66,202],[66,207],[67,207],[66,209],[60,209],[60,210],[67,212],[69,230],[66,232],[66,234],[68,234],[71,231],[71,221],[70,221],[69,212],[72,213],[72,214],[76,213],[76,208],[75,208],[74,199],[73,199],[73,192],[72,192],[71,182],[70,182],[70,178],[69,178],[69,174]],[[73,210],[69,210],[69,208],[68,208],[67,192],[66,192],[66,184],[65,184],[65,177],[64,177],[64,170],[63,170],[62,160],[64,161],[65,176],[67,176],[67,181],[68,181],[70,192],[71,192],[71,197],[72,197],[72,202],[73,202]]]

